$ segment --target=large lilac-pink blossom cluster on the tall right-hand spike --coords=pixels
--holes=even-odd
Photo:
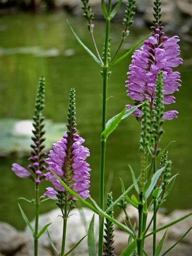
[[[147,99],[151,102],[151,107],[154,107],[156,79],[158,72],[163,71],[164,80],[164,104],[175,103],[173,94],[179,91],[181,86],[179,82],[180,73],[173,71],[173,67],[177,67],[182,63],[182,59],[178,58],[180,54],[178,36],[168,38],[163,36],[164,33],[160,29],[156,29],[156,34],[150,36],[148,40],[144,41],[144,45],[140,50],[136,50],[132,55],[132,63],[129,66],[128,80],[126,87],[128,87],[127,95],[135,101],[135,105],[139,105],[143,100]],[[128,109],[133,105],[126,105]],[[164,119],[173,119],[177,117],[177,111],[167,111],[164,113]],[[142,111],[135,110],[132,115],[141,117]]]

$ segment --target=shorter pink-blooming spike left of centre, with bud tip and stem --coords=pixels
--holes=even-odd
[[[44,193],[51,199],[58,200],[57,205],[62,211],[63,218],[63,238],[62,250],[60,255],[64,256],[66,241],[66,226],[70,211],[75,207],[76,197],[71,195],[62,186],[54,174],[58,175],[70,189],[76,192],[81,198],[90,197],[88,188],[90,187],[90,164],[85,159],[90,156],[89,149],[84,147],[84,139],[77,135],[76,112],[75,112],[75,89],[70,90],[68,106],[67,133],[60,141],[53,143],[53,149],[50,150],[49,158],[46,163],[47,181],[51,181],[56,190],[51,187],[46,188]],[[54,173],[54,174],[53,174]]]

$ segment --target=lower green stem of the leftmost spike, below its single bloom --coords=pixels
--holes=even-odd
[[[35,233],[34,233],[34,256],[38,256],[38,215],[39,215],[39,196],[38,184],[35,184]]]

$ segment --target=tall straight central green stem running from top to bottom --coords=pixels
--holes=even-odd
[[[109,31],[110,31],[110,13],[111,0],[108,2],[108,18],[106,19],[106,33],[105,33],[105,53],[104,64],[102,67],[103,74],[103,101],[102,101],[102,132],[105,130],[106,116],[107,116],[107,82],[108,82],[108,51],[109,51]],[[104,177],[105,177],[105,152],[106,141],[101,141],[101,166],[100,166],[100,202],[99,206],[104,211]],[[99,215],[99,244],[98,256],[103,253],[103,231],[104,231],[104,216]]]

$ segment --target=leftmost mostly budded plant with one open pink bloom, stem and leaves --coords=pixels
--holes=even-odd
[[[45,148],[45,144],[43,144],[45,141],[45,137],[43,137],[45,134],[45,130],[44,130],[45,118],[43,117],[43,114],[42,114],[42,111],[44,109],[44,102],[45,102],[45,78],[41,77],[39,79],[39,86],[38,86],[38,92],[36,96],[36,104],[35,104],[33,123],[32,123],[34,127],[34,130],[32,130],[33,144],[31,144],[31,148],[32,148],[31,156],[28,159],[31,162],[31,164],[28,165],[28,170],[17,163],[14,163],[12,165],[12,170],[17,176],[21,178],[31,179],[35,185],[35,199],[32,199],[30,201],[23,197],[19,198],[35,204],[35,229],[32,228],[32,226],[30,225],[25,213],[23,212],[21,206],[19,205],[19,209],[21,211],[23,219],[26,221],[26,224],[28,224],[32,232],[32,235],[34,237],[34,255],[35,256],[38,255],[38,238],[43,234],[47,226],[50,225],[50,224],[47,224],[38,233],[39,204],[45,201],[44,196],[39,196],[39,184],[41,183],[41,180],[45,179],[46,177],[44,173],[46,169],[46,166],[45,166],[46,152],[43,151],[43,149]]]

